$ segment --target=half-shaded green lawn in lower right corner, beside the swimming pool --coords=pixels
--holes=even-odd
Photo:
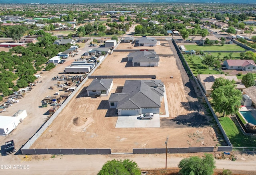
[[[229,117],[221,117],[219,121],[234,147],[255,147],[256,137],[245,136],[240,128]]]

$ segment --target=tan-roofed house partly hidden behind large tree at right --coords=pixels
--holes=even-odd
[[[199,74],[197,75],[197,79],[199,84],[201,85],[202,89],[204,90],[204,94],[206,96],[210,96],[212,93],[212,85],[215,81],[215,79],[218,78],[224,78],[224,79],[229,79],[229,80],[234,80],[236,82],[236,89],[244,89],[245,86],[243,84],[238,83],[238,79],[236,76],[228,76],[224,74]]]

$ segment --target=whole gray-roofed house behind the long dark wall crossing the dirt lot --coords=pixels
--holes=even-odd
[[[128,61],[132,61],[132,66],[158,66],[159,55],[154,51],[137,51],[128,55]]]

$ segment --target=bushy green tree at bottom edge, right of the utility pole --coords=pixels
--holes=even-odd
[[[193,156],[182,159],[178,165],[182,175],[212,175],[215,169],[214,157],[205,154],[204,157]]]

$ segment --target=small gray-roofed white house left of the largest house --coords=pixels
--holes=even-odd
[[[113,87],[113,79],[94,79],[86,88],[87,96],[108,96]]]

